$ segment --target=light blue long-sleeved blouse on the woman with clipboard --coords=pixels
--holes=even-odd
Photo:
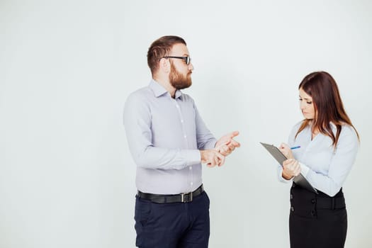
[[[292,150],[293,156],[300,162],[301,174],[308,179],[310,184],[327,195],[334,196],[342,188],[356,159],[359,148],[356,132],[350,125],[342,125],[339,141],[334,148],[332,139],[327,135],[320,133],[311,140],[310,126],[295,137],[302,123],[303,121],[300,121],[291,130],[288,145],[290,147],[300,146]],[[331,127],[336,135],[336,126],[331,123]],[[283,169],[279,167],[279,179],[291,181],[283,179],[282,171]]]

